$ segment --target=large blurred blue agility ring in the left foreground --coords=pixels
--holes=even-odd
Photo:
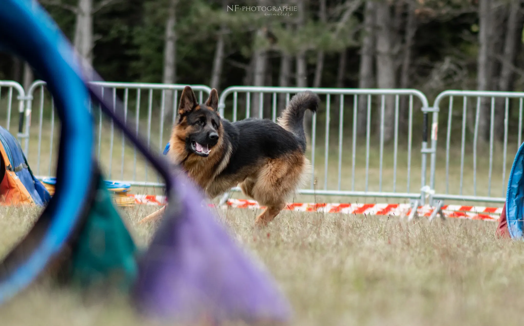
[[[73,49],[45,10],[36,1],[2,0],[0,45],[47,81],[62,121],[56,193],[40,218],[43,230],[36,230],[37,222],[27,236],[38,235],[37,244],[29,253],[16,254],[15,248],[3,262],[11,261],[0,275],[2,304],[29,285],[69,239],[84,214],[85,200],[78,194],[90,191],[95,163],[89,93]]]

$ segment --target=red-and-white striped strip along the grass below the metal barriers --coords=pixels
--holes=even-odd
[[[155,195],[128,195],[135,199],[139,205],[166,205],[165,196]],[[213,204],[209,206],[213,207]],[[250,208],[264,209],[255,200],[229,199],[223,208]],[[289,203],[286,210],[302,212],[342,213],[346,215],[382,215],[382,216],[408,216],[411,212],[410,204],[328,204],[328,203]],[[419,206],[419,216],[430,217],[435,207],[429,205]],[[463,218],[472,220],[497,221],[502,212],[502,207],[444,205],[442,213],[446,218]]]

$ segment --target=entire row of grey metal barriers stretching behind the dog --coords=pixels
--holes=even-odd
[[[144,134],[150,145],[155,145],[151,142],[158,140],[158,150],[163,150],[177,114],[178,91],[185,85],[94,84],[112,92],[115,99],[117,96],[122,98],[125,116],[134,114],[136,132]],[[45,85],[42,81],[35,82],[26,95],[18,83],[0,81],[0,110],[5,110],[5,114],[0,113],[0,121],[9,130],[13,127],[14,115],[18,113],[17,137],[39,178],[52,175],[56,156],[53,155],[56,148],[53,144],[59,136],[54,121],[54,103]],[[208,86],[192,87],[201,102],[211,92]],[[524,93],[444,91],[430,107],[424,94],[416,89],[235,86],[224,89],[219,109],[222,116],[232,121],[250,116],[275,121],[291,96],[305,90],[321,96],[321,108],[311,117],[308,130],[308,156],[313,174],[308,187],[299,189],[298,193],[404,198],[411,200],[413,205],[422,204],[425,198],[429,198],[429,203],[434,206],[442,206],[444,200],[505,201],[507,172],[522,141]],[[147,95],[144,96],[145,92]],[[155,96],[155,93],[160,93],[156,94],[160,96]],[[457,101],[457,97],[461,100]],[[35,104],[38,131],[31,128],[31,112]],[[147,109],[141,110],[144,105]],[[160,111],[159,116],[154,117],[154,111]],[[155,174],[152,178],[156,181],[151,180],[151,174],[148,178],[147,164],[139,162],[136,150],[126,145],[122,135],[115,132],[112,122],[104,121],[96,106],[92,107],[92,113],[98,120],[95,130],[97,155],[108,171],[108,179],[138,186],[162,186]],[[445,146],[437,147],[439,113],[447,114],[447,123],[441,123],[443,127],[440,128],[440,132],[445,133],[446,142]],[[403,114],[408,118],[402,125],[399,119]],[[317,124],[318,116],[322,116],[324,123]],[[419,118],[423,119],[420,147],[417,141],[413,143],[414,121],[420,121]],[[46,124],[48,126],[44,128]],[[390,143],[387,142],[388,126],[393,128]],[[416,126],[419,130],[419,125]],[[407,133],[403,138],[405,143],[401,143],[399,137],[402,131]],[[348,134],[344,135],[344,132]],[[501,137],[500,142],[496,141],[497,137]],[[392,153],[388,150],[391,142]],[[34,143],[36,148],[32,145]],[[454,152],[454,143],[460,144],[460,152]],[[386,151],[385,144],[388,146]],[[420,150],[420,156],[413,155],[414,150]],[[121,164],[115,163],[115,151]],[[427,155],[430,155],[429,182],[426,180]],[[460,171],[450,168],[455,162],[457,166],[460,164]],[[501,172],[500,179],[495,174],[497,171]]]

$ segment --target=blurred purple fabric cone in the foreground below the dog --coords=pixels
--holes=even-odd
[[[287,321],[287,300],[212,218],[194,186],[182,185],[182,178],[174,183],[179,200],[169,203],[140,262],[139,307],[182,322]]]

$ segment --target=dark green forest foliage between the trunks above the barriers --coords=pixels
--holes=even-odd
[[[153,82],[162,80],[165,26],[170,0],[116,0],[93,16],[95,46],[93,64],[106,80],[123,82]],[[384,0],[386,1],[386,0]],[[392,2],[391,13],[402,8],[395,46],[398,64],[403,55],[407,21],[406,8],[411,3],[416,9],[417,31],[411,48],[410,87],[428,86],[432,73],[451,58],[454,66],[467,70],[467,82],[475,81],[478,38],[477,2],[473,0],[406,0],[403,7]],[[502,1],[502,0],[501,0]],[[505,1],[505,0],[504,0]],[[65,6],[75,7],[78,0],[61,0],[63,5],[46,5],[65,35],[72,40],[75,14]],[[94,5],[102,0],[94,0]],[[273,84],[278,80],[280,54],[296,55],[307,51],[308,82],[313,80],[316,52],[325,54],[322,86],[335,86],[339,70],[339,53],[347,49],[345,87],[358,85],[359,46],[364,37],[365,1],[327,0],[326,21],[319,19],[320,0],[306,1],[304,22],[298,25],[298,12],[274,15],[270,12],[246,11],[238,8],[257,6],[257,0],[223,2],[222,0],[178,0],[176,5],[176,77],[177,83],[208,84],[211,78],[217,37],[224,32],[225,53],[221,85],[242,84],[255,49],[269,50]],[[267,5],[284,4],[267,0]],[[358,4],[356,7],[354,4]],[[502,2],[499,2],[502,5]],[[65,6],[64,6],[65,5]],[[227,7],[229,5],[229,7]],[[235,5],[238,7],[235,11]],[[346,15],[352,10],[350,15]],[[288,15],[289,14],[289,15]],[[346,19],[347,18],[347,19]],[[256,37],[260,28],[267,37]],[[519,31],[520,32],[520,31]],[[524,35],[524,34],[523,34]],[[524,60],[519,56],[519,62]],[[447,59],[446,59],[447,58]],[[518,62],[518,63],[519,63]],[[517,63],[517,66],[519,64]],[[294,81],[292,62],[291,82]],[[20,69],[14,75],[12,60],[0,57],[2,79],[20,78]],[[454,80],[445,72],[439,77],[438,87],[462,87],[466,81]],[[473,83],[473,84],[472,84]],[[520,87],[519,83],[515,85]],[[439,89],[436,89],[439,88]]]

